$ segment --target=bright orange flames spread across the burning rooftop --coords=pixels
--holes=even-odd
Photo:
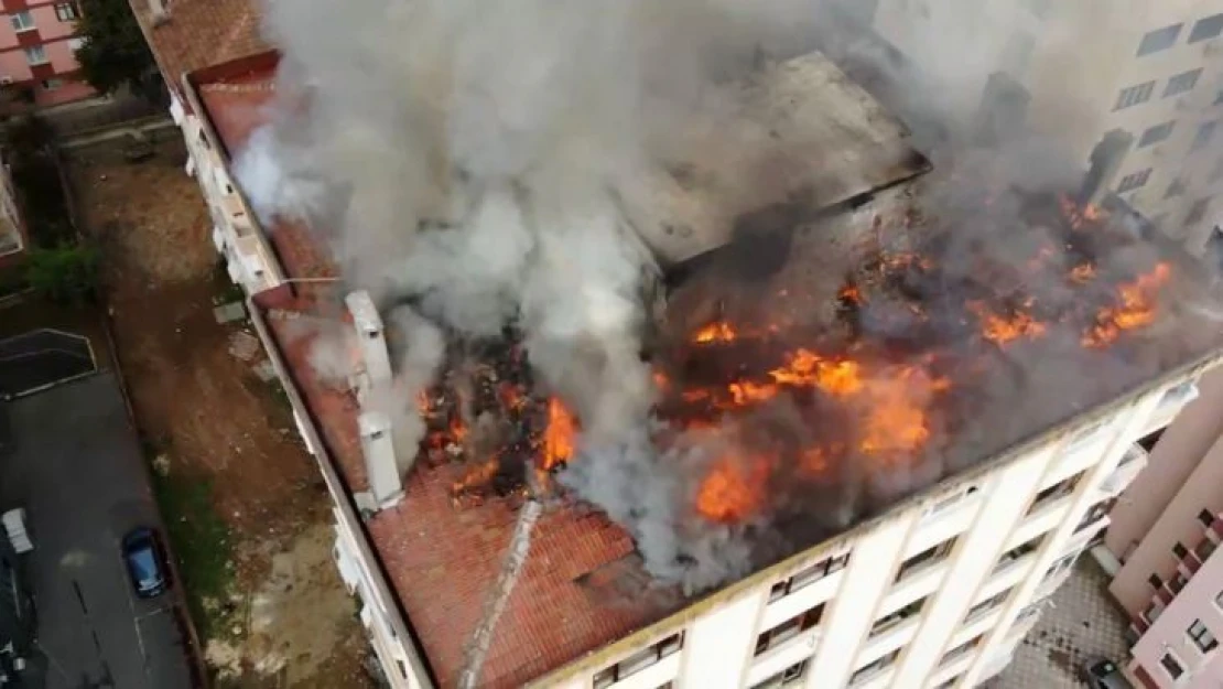
[[[915,275],[942,290],[947,274],[938,263],[920,251],[888,253],[878,248],[876,258],[846,275],[830,295],[838,313],[848,317],[876,305],[899,307],[877,310],[876,317],[882,313],[909,324],[933,327],[934,318],[950,316],[959,323],[954,337],[975,337],[975,348],[967,343],[963,351],[960,345],[931,349],[922,340],[925,349],[896,349],[862,338],[854,329],[849,335],[828,337],[816,330],[816,340],[811,329],[802,330],[801,316],[795,316],[802,300],[810,297],[793,289],[773,291],[785,306],[762,308],[767,313],[761,322],[719,317],[681,333],[679,356],[656,366],[653,383],[664,400],[659,420],[669,428],[660,434],[662,442],[679,439],[701,450],[665,460],[701,467],[690,493],[696,515],[720,525],[748,523],[767,516],[774,507],[772,492],[793,481],[830,486],[845,471],[882,475],[914,465],[939,449],[932,443],[936,437],[953,431],[948,410],[964,399],[953,394],[958,384],[953,377],[961,383],[970,381],[975,362],[988,365],[989,357],[1005,359],[1019,349],[1076,346],[1075,341],[1093,351],[1112,346],[1129,330],[1153,324],[1172,266],[1157,263],[1129,279],[1118,278],[1115,268],[1088,258],[1090,242],[1099,241],[1093,230],[1102,228],[1107,215],[1066,198],[1060,199],[1060,210],[1068,244],[1063,248],[1044,241],[1009,263],[1007,269],[1018,272],[1018,279],[1009,281],[1005,294],[982,294],[988,292],[988,285],[938,291],[938,299],[945,300],[936,313],[932,302],[905,296],[904,286],[899,297],[887,290]],[[1088,248],[1075,248],[1076,241]],[[1063,263],[1065,257],[1070,257],[1069,263]],[[1106,280],[1115,286],[1109,290]],[[1047,299],[1053,292],[1040,292],[1042,283],[1081,290],[1076,292],[1081,299]],[[1046,296],[1037,299],[1035,294]],[[948,308],[955,311],[948,313]],[[964,351],[977,359],[963,359]],[[687,366],[696,368],[689,371]],[[560,399],[532,397],[523,379],[503,379],[495,393],[501,410],[531,428],[530,437],[473,464],[455,482],[455,493],[495,480],[508,453],[523,447],[534,453],[528,459],[534,490],[548,490],[552,475],[576,456],[578,420]],[[426,447],[444,448],[443,456],[453,455],[456,447],[466,448],[467,428],[453,403],[443,395],[422,394],[418,404],[430,420]],[[777,427],[769,425],[773,414],[784,417]]]

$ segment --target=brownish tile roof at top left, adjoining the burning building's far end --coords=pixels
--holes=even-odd
[[[132,11],[171,88],[183,73],[268,49],[259,35],[259,0],[169,0],[154,21],[153,2],[131,0]]]

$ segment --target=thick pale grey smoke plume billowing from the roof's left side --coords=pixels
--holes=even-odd
[[[684,147],[733,159],[739,135],[720,126],[726,104],[708,87],[811,5],[267,5],[284,55],[279,99],[238,180],[265,223],[306,220],[324,235],[352,285],[416,305],[388,317],[410,341],[395,384],[373,395],[399,447],[423,432],[408,416],[442,357],[429,321],[467,337],[514,321],[538,378],[582,420],[582,469],[566,481],[634,531],[656,574],[681,574],[674,510],[691,486],[660,476],[647,442],[641,351],[658,267],[615,190]],[[324,363],[344,349],[319,346]],[[690,559],[740,561],[701,570],[702,584],[747,564],[712,542],[696,551]]]

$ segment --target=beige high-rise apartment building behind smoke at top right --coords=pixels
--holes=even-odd
[[[998,71],[1026,88],[1026,124],[1085,166],[1106,132],[1129,132],[1113,191],[1191,252],[1223,244],[1223,0],[844,4],[953,111],[988,100]]]

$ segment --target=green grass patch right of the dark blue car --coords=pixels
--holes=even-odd
[[[170,547],[179,561],[180,583],[201,635],[221,633],[232,580],[229,526],[213,507],[212,482],[180,474],[153,474]]]

